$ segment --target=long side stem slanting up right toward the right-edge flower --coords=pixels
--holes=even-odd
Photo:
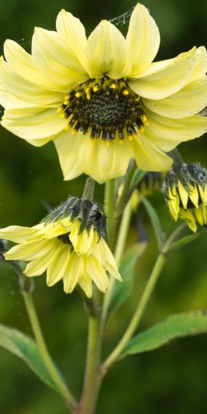
[[[179,228],[177,228],[172,235],[170,235],[169,239],[167,240],[164,249],[157,257],[157,260],[155,262],[155,266],[152,269],[152,273],[150,274],[150,277],[148,279],[148,283],[146,284],[146,288],[144,289],[144,293],[141,296],[140,302],[137,306],[137,309],[130,321],[130,324],[128,328],[126,329],[126,332],[124,333],[123,337],[121,338],[119,344],[115,347],[114,351],[109,355],[109,357],[106,359],[105,362],[103,362],[101,369],[103,375],[106,374],[110,366],[114,364],[117,359],[119,358],[119,355],[121,355],[122,351],[128,344],[129,340],[131,339],[132,335],[135,333],[135,330],[137,329],[137,326],[140,322],[140,319],[144,313],[144,310],[148,304],[148,301],[150,299],[150,296],[152,295],[152,292],[155,288],[155,285],[157,283],[157,280],[159,278],[159,275],[161,273],[161,270],[166,262],[166,259],[168,257],[168,250],[170,249],[170,245],[172,242],[177,239],[179,234],[184,230],[184,226],[181,225]]]

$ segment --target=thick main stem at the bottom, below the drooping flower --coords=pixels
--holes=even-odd
[[[79,404],[79,414],[93,414],[101,386],[100,357],[101,331],[100,317],[89,316],[88,351],[84,376],[83,394]]]

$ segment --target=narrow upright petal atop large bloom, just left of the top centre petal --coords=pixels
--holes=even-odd
[[[83,68],[86,68],[86,32],[82,23],[66,10],[61,10],[57,15],[57,32],[62,35],[64,41],[69,44],[72,51],[77,55]]]

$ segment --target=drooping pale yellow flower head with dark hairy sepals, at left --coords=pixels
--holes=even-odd
[[[97,204],[87,199],[69,197],[41,224],[1,228],[0,237],[17,243],[4,254],[6,260],[29,262],[26,276],[39,276],[47,270],[48,286],[63,279],[66,293],[79,284],[91,297],[92,282],[105,293],[107,273],[121,280],[105,241],[106,217]]]

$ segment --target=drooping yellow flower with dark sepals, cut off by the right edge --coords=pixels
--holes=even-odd
[[[207,170],[199,164],[181,164],[170,170],[164,197],[172,218],[187,222],[194,233],[197,223],[207,224]]]

